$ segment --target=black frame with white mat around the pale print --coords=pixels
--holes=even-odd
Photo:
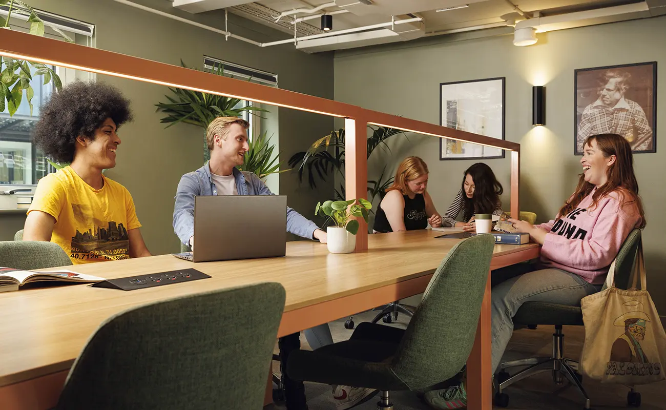
[[[456,121],[456,123],[452,123],[452,121],[450,121],[450,119],[446,119],[445,115],[444,115],[445,87],[450,88],[450,86],[452,86],[452,85],[472,84],[472,83],[474,83],[474,85],[478,87],[478,83],[484,83],[484,82],[489,83],[488,86],[492,87],[492,85],[493,85],[492,83],[496,83],[498,81],[500,82],[499,85],[501,85],[501,107],[499,107],[499,108],[495,107],[495,109],[498,111],[496,113],[496,115],[498,115],[498,117],[501,113],[501,125],[500,125],[500,127],[501,127],[501,139],[502,140],[505,139],[506,77],[493,77],[493,78],[486,78],[486,79],[475,79],[475,80],[466,80],[466,81],[452,81],[452,82],[448,82],[448,83],[440,83],[440,125],[442,125],[443,127],[462,129],[464,131],[470,131],[470,132],[477,133],[477,134],[480,134],[480,135],[486,135],[488,137],[494,137],[494,138],[500,139],[500,137],[496,137],[496,135],[488,135],[487,133],[477,132],[478,130],[476,130],[476,129],[466,129],[466,127],[461,127],[460,123],[458,123],[457,121]],[[448,90],[448,91],[450,91],[450,90]],[[450,92],[448,94],[449,94],[449,96],[451,96]],[[447,104],[453,103],[453,101],[455,101],[456,113],[457,113],[458,99],[455,99],[455,100],[447,99]],[[448,117],[448,115],[447,115],[447,117]],[[452,142],[449,142],[449,141],[452,141]],[[503,149],[492,148],[492,147],[482,148],[482,155],[480,155],[480,156],[479,155],[474,155],[474,156],[466,157],[464,155],[456,155],[456,153],[446,154],[445,144],[455,144],[455,143],[456,142],[454,142],[454,140],[440,138],[440,161],[461,160],[461,159],[484,159],[484,160],[486,160],[486,159],[501,159],[501,158],[505,157],[505,153],[504,153]],[[464,149],[465,144],[471,144],[471,143],[462,143],[462,142],[458,142],[458,143],[460,143],[460,149]],[[472,145],[476,145],[476,144],[472,144]],[[479,145],[477,145],[477,146],[479,146]],[[483,146],[481,146],[481,147],[483,147]],[[496,149],[496,150],[500,151],[500,154],[499,155],[488,155],[488,156],[486,156],[486,155],[483,155],[483,151],[485,149]],[[450,156],[448,156],[448,155],[450,155]]]

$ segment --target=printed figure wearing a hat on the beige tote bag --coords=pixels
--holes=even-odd
[[[639,301],[623,303],[623,307],[628,310],[627,313],[615,319],[613,325],[624,327],[624,333],[611,347],[609,365],[613,361],[649,363],[641,347],[641,341],[645,339],[645,328],[650,318],[642,311],[643,303]]]

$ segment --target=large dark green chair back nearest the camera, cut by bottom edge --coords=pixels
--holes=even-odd
[[[279,283],[176,297],[107,319],[58,410],[256,410],[284,310]]]

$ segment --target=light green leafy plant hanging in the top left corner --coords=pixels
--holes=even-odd
[[[8,4],[9,3],[9,4]],[[30,34],[44,36],[45,25],[51,27],[57,33],[63,36],[66,41],[73,43],[73,39],[67,37],[55,25],[42,21],[35,9],[23,3],[20,0],[0,0],[0,5],[8,5],[9,11],[7,19],[0,17],[0,28],[11,29],[9,21],[12,14],[25,15],[28,17],[30,23]],[[51,67],[41,63],[33,63],[32,61],[13,59],[11,57],[0,57],[0,112],[9,111],[9,116],[13,116],[19,109],[22,101],[27,101],[30,106],[30,115],[33,115],[33,97],[35,91],[30,85],[33,80],[33,75],[43,75],[44,84],[53,81],[55,88],[60,91],[63,83]],[[23,91],[25,91],[25,100],[23,99]],[[5,104],[5,100],[7,103]]]

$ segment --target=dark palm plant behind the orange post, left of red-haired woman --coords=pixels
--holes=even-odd
[[[404,131],[400,129],[378,127],[375,125],[368,125],[372,129],[372,135],[368,137],[368,159],[377,147],[383,145],[384,148],[390,151],[386,143],[390,137],[394,135],[403,134]],[[308,148],[307,151],[301,151],[292,155],[288,163],[290,167],[298,167],[298,180],[302,182],[304,173],[307,173],[308,183],[310,188],[316,188],[316,180],[321,179],[326,181],[326,178],[332,173],[340,173],[344,179],[342,169],[344,167],[344,128],[333,131],[332,133],[322,137]],[[370,194],[371,202],[379,195],[382,197],[386,188],[390,187],[393,183],[393,177],[384,175],[386,168],[377,179],[368,181],[368,193]],[[336,199],[344,199],[344,183],[340,184],[340,188],[335,190]]]

